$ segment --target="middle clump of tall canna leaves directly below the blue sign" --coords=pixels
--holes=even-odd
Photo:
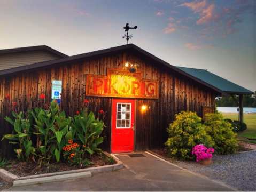
[[[39,157],[47,159],[52,157],[60,161],[60,152],[65,145],[64,136],[68,131],[71,118],[66,118],[63,112],[60,113],[58,103],[52,101],[49,110],[36,108],[32,115],[35,119],[34,134],[37,135],[37,146]]]

